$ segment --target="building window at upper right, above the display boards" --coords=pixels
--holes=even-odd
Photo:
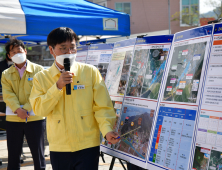
[[[181,26],[199,25],[199,0],[181,0]]]

